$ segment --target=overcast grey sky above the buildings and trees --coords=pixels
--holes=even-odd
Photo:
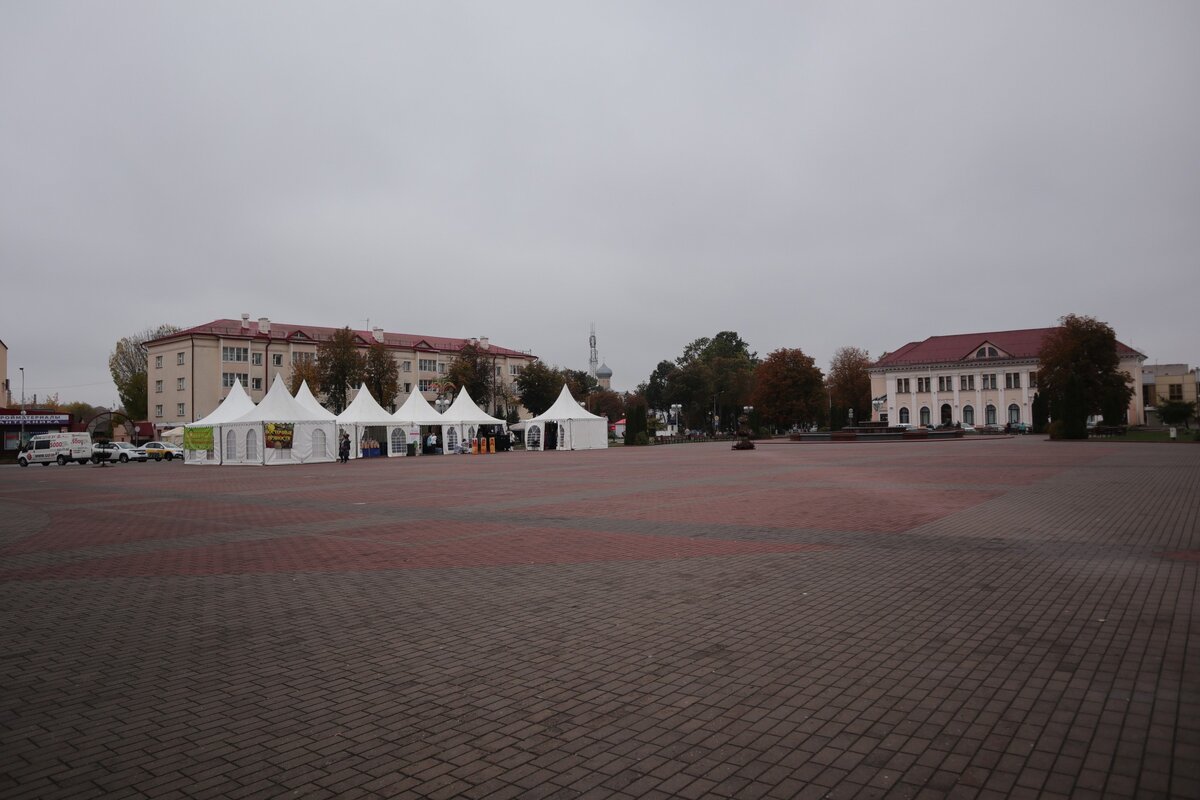
[[[1200,2],[0,0],[0,339],[113,404],[217,318],[490,336],[617,389],[1111,324],[1200,361]]]

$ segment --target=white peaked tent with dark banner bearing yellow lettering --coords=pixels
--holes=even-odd
[[[226,464],[306,464],[337,453],[334,420],[301,405],[278,374],[262,403],[222,426],[222,437]]]

